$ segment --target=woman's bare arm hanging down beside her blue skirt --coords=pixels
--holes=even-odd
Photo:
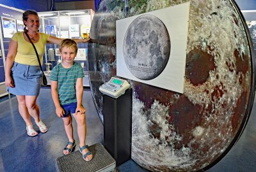
[[[15,87],[15,85],[12,80],[11,69],[13,66],[15,56],[17,54],[17,48],[18,48],[18,43],[16,41],[13,41],[13,39],[11,39],[9,48],[8,48],[8,54],[5,61],[5,85],[8,85],[12,88]]]

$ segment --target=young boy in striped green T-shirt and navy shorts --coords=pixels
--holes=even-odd
[[[63,61],[52,69],[50,77],[51,92],[56,114],[62,118],[68,137],[68,143],[63,150],[63,154],[70,154],[76,145],[73,137],[72,114],[77,122],[79,151],[83,154],[85,161],[90,161],[92,153],[88,149],[88,145],[85,145],[86,109],[82,105],[84,73],[80,64],[74,62],[76,54],[77,45],[75,41],[72,39],[61,41],[60,55]]]

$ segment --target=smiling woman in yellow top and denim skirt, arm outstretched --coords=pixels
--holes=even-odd
[[[46,43],[60,44],[63,40],[49,34],[38,32],[40,27],[36,11],[25,11],[22,15],[25,25],[24,32],[34,43],[41,64]],[[40,119],[40,111],[36,99],[40,92],[42,71],[40,70],[35,50],[24,32],[13,35],[5,63],[5,85],[8,92],[17,96],[19,113],[26,123],[28,136],[38,133],[33,128],[30,115],[34,118],[41,133],[47,132],[47,127]],[[88,39],[74,39],[76,43],[86,43]]]

